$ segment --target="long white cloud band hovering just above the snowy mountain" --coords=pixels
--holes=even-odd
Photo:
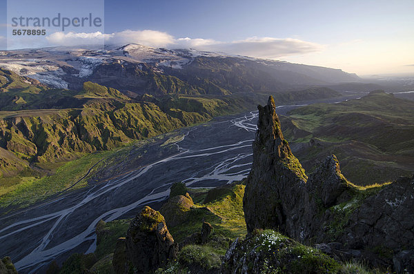
[[[275,59],[290,55],[303,55],[319,52],[324,46],[300,39],[277,39],[273,37],[251,37],[244,40],[223,42],[214,39],[175,38],[166,32],[157,30],[124,30],[111,34],[101,32],[75,33],[55,32],[46,37],[50,46],[77,46],[105,43],[124,45],[139,43],[155,48],[194,48],[214,52],[225,52],[233,55],[246,55]]]

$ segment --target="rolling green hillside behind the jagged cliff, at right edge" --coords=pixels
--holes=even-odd
[[[314,104],[282,117],[282,128],[304,168],[337,155],[351,182],[387,182],[414,172],[414,101],[385,92],[339,104]]]

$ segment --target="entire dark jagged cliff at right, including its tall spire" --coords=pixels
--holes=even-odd
[[[394,264],[395,271],[413,265],[414,177],[357,187],[345,179],[332,155],[307,178],[282,135],[273,98],[258,108],[244,195],[248,233],[278,229],[300,242],[324,243],[337,257]]]

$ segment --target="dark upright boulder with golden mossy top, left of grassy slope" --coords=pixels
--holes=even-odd
[[[176,257],[177,244],[168,232],[164,217],[146,206],[126,233],[126,255],[138,273],[155,271]]]

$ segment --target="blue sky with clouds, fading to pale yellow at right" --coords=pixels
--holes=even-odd
[[[26,17],[61,12],[70,19],[92,12],[103,23],[48,28],[45,36],[30,40],[10,38],[10,17],[19,12]],[[9,0],[9,5],[0,0],[0,48],[141,43],[341,68],[362,76],[414,75],[413,14],[413,0]]]

